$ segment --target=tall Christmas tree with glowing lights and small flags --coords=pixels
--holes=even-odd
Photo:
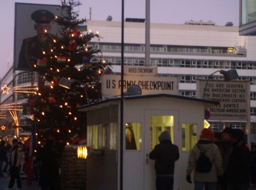
[[[42,50],[43,59],[34,67],[39,76],[38,92],[29,98],[33,100],[38,141],[49,135],[65,142],[85,136],[86,116],[78,114],[77,107],[101,100],[101,71],[106,63],[91,61],[101,56],[101,51],[90,46],[90,40],[100,36],[82,31],[86,19],[78,19],[74,11],[80,5],[79,1],[61,1],[60,15],[54,20],[60,28],[58,34],[45,31],[51,45]],[[62,78],[73,81],[70,89],[58,85]]]

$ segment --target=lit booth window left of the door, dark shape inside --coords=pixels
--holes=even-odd
[[[126,123],[126,150],[141,150],[141,123]]]

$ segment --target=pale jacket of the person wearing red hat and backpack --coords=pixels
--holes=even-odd
[[[207,155],[210,158],[211,162],[213,162],[211,171],[206,173],[198,173],[197,171],[195,171],[196,163],[201,153],[199,148],[197,147],[197,144],[195,144],[189,155],[187,175],[191,175],[191,172],[194,170],[194,181],[217,181],[217,176],[223,175],[222,158],[217,145],[214,144],[210,139],[201,138],[198,141],[198,146],[200,147],[201,151],[207,150],[205,152],[205,155]]]

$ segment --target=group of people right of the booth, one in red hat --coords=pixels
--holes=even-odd
[[[197,160],[205,154],[212,163],[210,172],[198,172]],[[186,180],[194,189],[245,190],[256,185],[256,146],[249,150],[245,133],[241,129],[226,127],[222,133],[203,129],[199,141],[192,148],[187,166]]]

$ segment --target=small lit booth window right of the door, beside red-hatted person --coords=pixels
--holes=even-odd
[[[191,151],[197,143],[197,124],[182,123],[182,151]]]

